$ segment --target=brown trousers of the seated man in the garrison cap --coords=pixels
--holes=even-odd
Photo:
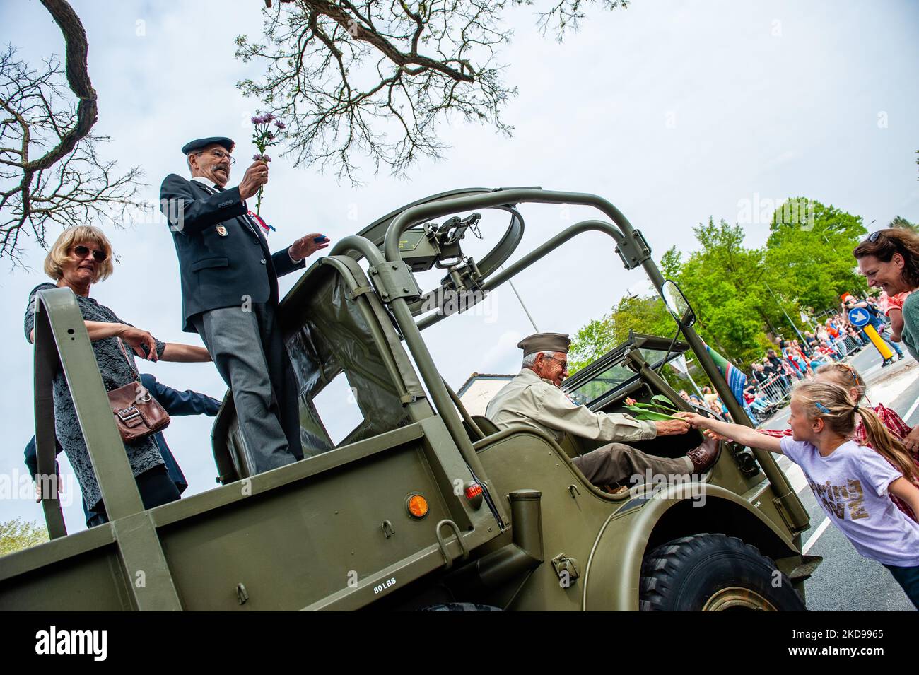
[[[692,473],[688,457],[669,459],[645,455],[629,445],[611,443],[572,460],[594,485],[635,485],[647,481],[648,471],[656,481],[670,482],[669,476],[686,476]],[[663,476],[664,478],[656,478]]]

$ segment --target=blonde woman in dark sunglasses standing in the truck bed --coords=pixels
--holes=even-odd
[[[97,281],[108,278],[114,271],[111,243],[98,228],[78,226],[62,231],[45,257],[44,269],[45,274],[56,283],[40,284],[28,296],[25,317],[28,342],[35,342],[36,294],[54,287],[70,288],[83,314],[86,332],[89,333],[93,353],[96,354],[96,365],[107,391],[123,387],[137,379],[134,354],[150,361],[210,361],[210,354],[204,347],[162,343],[149,332],[121,321],[115,312],[89,297],[90,287]],[[54,376],[53,391],[57,438],[74,467],[86,504],[91,511],[101,514],[101,522],[107,522],[108,516],[76,417],[74,401],[61,371]],[[179,499],[176,484],[166,473],[163,456],[153,436],[125,445],[125,451],[140,489],[144,508],[152,509],[154,506]]]

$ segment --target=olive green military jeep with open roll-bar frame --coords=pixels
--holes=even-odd
[[[505,267],[530,203],[593,207],[600,219]],[[475,261],[462,241],[494,209],[509,224]],[[440,376],[425,328],[585,231],[607,234],[628,269],[644,268],[685,342],[680,330],[673,340],[633,335],[566,382],[573,399],[621,411],[626,397],[663,394],[690,410],[662,367],[691,349],[734,419],[749,423],[692,309],[612,204],[539,188],[456,190],[341,240],[283,299],[305,458],[254,475],[228,394],[212,434],[221,486],[144,511],[74,298],[53,289],[40,294],[35,324],[39,469],[53,473],[51,380],[62,367],[111,522],[67,535],[48,495],[51,541],[0,557],[0,610],[803,609],[819,558],[801,555],[807,513],[767,453],[722,444],[702,482],[596,487],[571,461],[596,443],[499,431]],[[434,267],[445,276],[424,292],[416,275]],[[336,388],[344,393],[330,396]],[[681,456],[700,441],[691,432],[636,445]]]

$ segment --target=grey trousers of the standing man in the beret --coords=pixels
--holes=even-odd
[[[277,308],[253,303],[210,309],[191,318],[223,381],[255,473],[302,459],[300,404]]]

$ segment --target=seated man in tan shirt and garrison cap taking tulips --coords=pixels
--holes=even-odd
[[[676,459],[646,455],[623,444],[687,433],[689,425],[682,420],[640,421],[622,413],[594,412],[575,405],[561,389],[568,375],[570,344],[568,335],[558,332],[540,332],[521,340],[517,347],[524,351],[523,367],[495,394],[485,416],[499,429],[528,426],[557,441],[566,432],[607,441],[607,445],[572,460],[595,485],[641,482],[649,469],[654,476],[686,476],[701,473],[714,462],[718,445],[710,440]]]

